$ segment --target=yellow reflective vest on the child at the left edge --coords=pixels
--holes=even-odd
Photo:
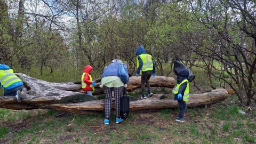
[[[21,81],[21,79],[13,73],[12,69],[0,70],[0,83],[3,87],[8,87],[15,82]],[[21,81],[22,82],[22,81]]]

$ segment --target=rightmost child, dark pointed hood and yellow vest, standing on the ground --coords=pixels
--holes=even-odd
[[[172,90],[174,95],[174,100],[177,100],[180,106],[180,112],[178,117],[175,119],[177,122],[185,122],[183,115],[186,112],[187,104],[189,98],[189,71],[187,68],[182,69],[177,76],[177,86]]]

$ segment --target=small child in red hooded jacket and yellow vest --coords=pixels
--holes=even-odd
[[[91,96],[94,92],[94,86],[96,85],[96,82],[92,81],[92,77],[90,75],[92,69],[93,68],[89,65],[85,66],[84,73],[81,78],[83,91],[86,91],[87,94]]]

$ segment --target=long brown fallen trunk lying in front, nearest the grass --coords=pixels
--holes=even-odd
[[[178,102],[173,98],[160,99],[164,95],[153,95],[151,98],[143,100],[130,101],[130,111],[154,111],[165,108],[178,108]],[[190,94],[189,101],[186,102],[188,107],[205,106],[218,103],[225,100],[228,93],[225,89],[212,90],[211,92]],[[8,109],[56,109],[76,114],[97,114],[105,110],[105,100],[92,100],[79,103],[0,103],[1,108]],[[115,110],[115,103],[112,103],[112,111]]]

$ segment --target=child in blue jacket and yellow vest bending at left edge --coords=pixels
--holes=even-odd
[[[23,87],[23,82],[13,73],[13,69],[4,64],[0,64],[0,87],[4,89],[4,96],[15,96],[18,102],[26,98],[27,89]]]

